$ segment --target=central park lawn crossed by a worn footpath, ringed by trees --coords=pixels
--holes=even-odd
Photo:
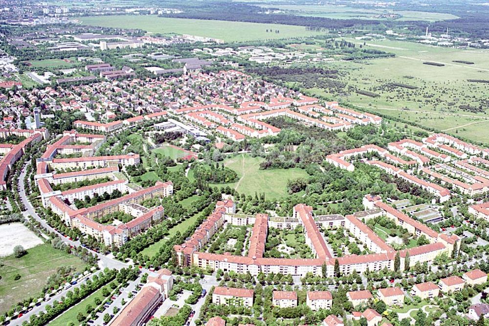
[[[254,195],[265,193],[267,199],[277,199],[287,195],[287,182],[291,179],[307,176],[300,168],[260,170],[263,158],[239,155],[224,160],[224,165],[238,174],[239,180],[232,184],[211,186],[230,186],[240,193]]]

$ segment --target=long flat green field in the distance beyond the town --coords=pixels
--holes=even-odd
[[[213,37],[227,42],[282,39],[322,34],[304,26],[281,24],[207,21],[162,18],[155,15],[89,16],[79,18],[83,24],[103,27],[141,28],[149,33],[177,33]],[[273,32],[267,32],[272,29]],[[279,33],[275,33],[279,30]]]

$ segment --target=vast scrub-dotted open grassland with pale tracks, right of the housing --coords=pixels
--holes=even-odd
[[[482,50],[433,47],[402,41],[358,41],[364,48],[395,53],[393,58],[368,61],[328,62],[324,68],[338,70],[341,90],[312,88],[312,94],[326,96],[368,109],[384,116],[416,122],[472,141],[488,142],[489,56]],[[467,65],[453,61],[469,61]],[[437,67],[423,62],[437,62]],[[370,92],[365,95],[357,92]]]

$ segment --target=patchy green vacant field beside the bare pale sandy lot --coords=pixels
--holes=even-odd
[[[0,312],[8,310],[12,304],[40,294],[46,279],[56,272],[59,266],[73,266],[83,271],[85,263],[75,256],[42,244],[28,249],[20,258],[2,258],[0,266]],[[20,274],[21,278],[14,280]],[[66,325],[66,323],[64,324]]]

